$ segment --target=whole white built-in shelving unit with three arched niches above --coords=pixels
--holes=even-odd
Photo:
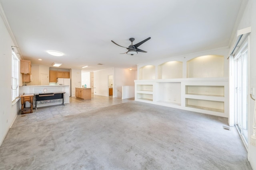
[[[229,86],[224,72],[221,55],[144,65],[138,68],[139,80],[134,81],[135,100],[228,117]]]

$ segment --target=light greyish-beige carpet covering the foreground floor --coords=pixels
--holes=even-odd
[[[0,169],[251,170],[227,119],[141,102],[13,127]]]

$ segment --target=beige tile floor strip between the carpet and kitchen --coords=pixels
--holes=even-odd
[[[46,106],[46,107],[37,107],[33,109],[33,113],[27,113],[21,115],[20,113],[17,115],[12,127],[18,127],[26,124],[33,124],[38,121],[46,121],[47,119],[54,119],[56,117],[62,117],[66,115],[83,113],[86,111],[98,109],[100,107],[107,107],[116,104],[121,104],[129,101],[133,101],[133,99],[120,99],[120,98],[112,98],[112,96],[99,96],[92,94],[92,100],[81,100],[76,97],[70,97],[70,103],[55,106]]]

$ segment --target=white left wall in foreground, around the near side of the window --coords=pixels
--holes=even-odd
[[[2,16],[0,10],[0,16]],[[2,144],[19,108],[18,101],[12,105],[12,46],[16,46],[10,37],[6,25],[0,17],[0,145]],[[19,55],[17,54],[19,57]]]

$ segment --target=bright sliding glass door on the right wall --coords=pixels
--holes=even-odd
[[[234,57],[235,122],[246,147],[248,146],[248,44]]]

